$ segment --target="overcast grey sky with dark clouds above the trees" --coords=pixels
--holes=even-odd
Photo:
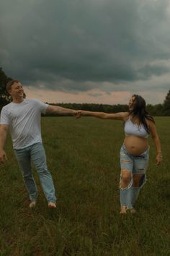
[[[49,103],[163,103],[169,0],[1,0],[0,67]]]

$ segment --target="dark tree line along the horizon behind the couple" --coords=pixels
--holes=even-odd
[[[2,68],[0,68],[0,111],[3,106],[11,102],[11,98],[6,93],[6,83],[12,80],[7,77]],[[87,111],[102,111],[106,113],[117,113],[128,111],[128,105],[108,105],[94,103],[50,103],[51,105],[62,106],[63,108],[82,109]],[[146,109],[151,116],[170,116],[170,90],[166,95],[164,103],[151,105],[148,104]]]

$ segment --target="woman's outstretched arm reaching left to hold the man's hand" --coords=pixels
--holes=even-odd
[[[115,114],[107,114],[105,112],[94,112],[94,111],[84,111],[79,110],[81,116],[94,116],[100,119],[115,119],[125,121],[128,117],[128,112],[119,112]]]

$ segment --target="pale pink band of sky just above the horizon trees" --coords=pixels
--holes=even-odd
[[[128,100],[133,93],[128,91],[116,91],[112,93],[104,93],[100,90],[90,90],[88,92],[81,93],[64,93],[55,90],[42,90],[32,89],[31,87],[24,87],[24,93],[27,98],[37,98],[40,101],[48,103],[101,103],[109,105],[128,104]],[[93,94],[99,94],[94,97]],[[90,94],[90,95],[89,95]],[[152,98],[158,98],[158,103],[163,103],[165,99],[165,93],[149,93],[148,91],[140,93],[140,95],[146,99],[146,103],[152,103]],[[154,104],[153,104],[154,105]]]

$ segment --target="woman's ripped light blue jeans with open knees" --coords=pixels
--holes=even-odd
[[[146,183],[146,169],[148,168],[149,147],[140,155],[130,155],[122,145],[120,149],[120,205],[127,209],[133,208],[135,200],[138,198],[140,188]],[[126,170],[130,176],[130,182],[127,187],[121,186],[122,171]],[[130,174],[130,175],[129,175]],[[138,184],[135,184],[135,178],[138,178]]]

